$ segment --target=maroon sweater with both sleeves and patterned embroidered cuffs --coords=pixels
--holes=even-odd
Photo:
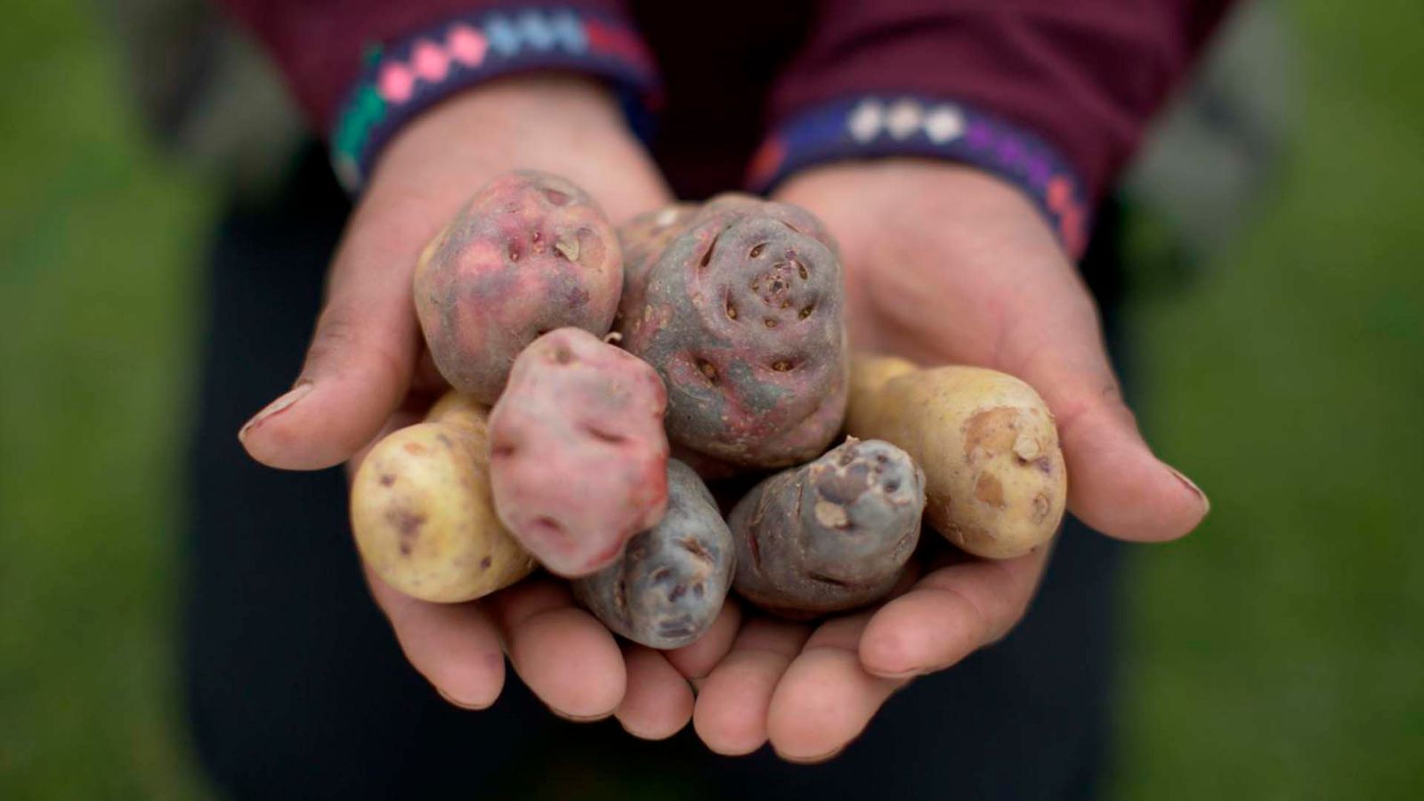
[[[830,158],[943,155],[1021,185],[1074,251],[1230,4],[723,0],[698,17],[666,0],[224,1],[330,131],[352,187],[444,94],[554,67],[652,105],[646,138],[685,197],[748,168],[765,188]]]

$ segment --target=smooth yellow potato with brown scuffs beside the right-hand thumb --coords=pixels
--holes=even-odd
[[[1054,416],[1022,381],[970,366],[917,369],[854,359],[846,429],[906,449],[924,469],[926,516],[950,542],[987,559],[1052,539],[1068,497]]]

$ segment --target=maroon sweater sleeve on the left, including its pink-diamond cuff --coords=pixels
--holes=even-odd
[[[222,3],[272,54],[313,128],[328,134],[349,191],[404,121],[496,76],[597,76],[635,117],[656,98],[652,58],[622,0]]]

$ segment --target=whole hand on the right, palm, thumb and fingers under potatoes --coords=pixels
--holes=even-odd
[[[1054,412],[1068,507],[1124,540],[1190,532],[1206,496],[1159,462],[1124,405],[1098,309],[1041,214],[967,167],[920,160],[827,165],[778,194],[820,217],[842,248],[857,349],[1015,375]],[[944,670],[1012,629],[1048,549],[991,562],[946,553],[879,609],[819,626],[745,620],[671,658],[699,680],[693,727],[713,750],[768,740],[783,758],[839,753],[916,676]],[[733,633],[735,630],[735,633]]]

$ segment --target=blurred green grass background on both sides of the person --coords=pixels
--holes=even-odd
[[[1424,6],[1282,6],[1269,192],[1193,279],[1134,274],[1143,423],[1215,506],[1135,554],[1124,800],[1424,790]],[[204,797],[175,487],[216,197],[85,4],[7,3],[0,66],[0,798]]]

